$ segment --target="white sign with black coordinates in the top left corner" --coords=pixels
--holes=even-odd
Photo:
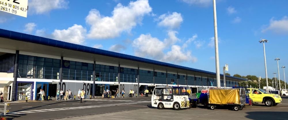
[[[0,0],[0,11],[27,17],[28,0]]]

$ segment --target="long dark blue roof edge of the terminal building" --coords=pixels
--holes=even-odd
[[[97,49],[97,48],[72,44],[72,43],[68,43],[68,42],[53,40],[53,39],[49,39],[49,38],[45,38],[45,37],[39,37],[39,36],[35,36],[35,35],[29,35],[29,34],[24,34],[24,33],[4,30],[4,29],[0,29],[0,37],[9,38],[12,40],[23,41],[23,42],[42,44],[42,45],[46,45],[46,46],[64,48],[64,49],[69,49],[69,50],[76,50],[76,51],[80,51],[80,52],[105,55],[105,56],[115,57],[115,58],[120,58],[120,59],[139,61],[139,62],[143,62],[143,63],[172,67],[172,68],[177,68],[177,69],[182,69],[182,70],[188,70],[188,71],[194,71],[194,72],[201,72],[201,73],[205,73],[205,74],[216,75],[216,73],[214,73],[214,72],[198,70],[198,69],[194,69],[194,68],[190,68],[190,67],[184,67],[184,66],[180,66],[180,65],[164,63],[164,62],[155,61],[155,60],[151,60],[151,59],[145,59],[145,58],[136,57],[136,56],[132,56],[132,55],[126,55],[126,54],[122,54],[122,53],[111,52],[111,51],[107,51],[107,50],[101,50],[101,49]],[[223,76],[223,74],[220,74],[220,75]],[[238,79],[238,80],[246,80],[244,78],[238,78],[238,77],[233,77],[233,76],[226,76],[226,77],[234,78],[234,79]]]

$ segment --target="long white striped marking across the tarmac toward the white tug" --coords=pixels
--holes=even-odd
[[[151,101],[149,101],[149,102],[151,102]],[[94,106],[79,106],[79,107],[70,107],[70,108],[52,108],[52,109],[40,109],[40,110],[26,110],[26,111],[11,112],[11,113],[8,113],[7,115],[27,114],[27,113],[40,113],[40,112],[50,112],[50,111],[60,111],[60,110],[85,109],[85,108],[99,108],[99,107],[109,107],[109,106],[116,106],[116,105],[133,105],[133,104],[139,104],[139,103],[143,103],[143,102],[106,104],[106,105],[94,105]],[[145,106],[145,107],[147,107],[147,106]]]

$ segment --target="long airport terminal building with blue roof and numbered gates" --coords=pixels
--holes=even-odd
[[[246,79],[226,76],[226,87]],[[79,89],[101,96],[124,89],[142,93],[155,86],[183,86],[192,93],[216,87],[216,73],[0,29],[0,90],[4,100],[36,100],[43,89]],[[224,86],[221,74],[221,86]]]

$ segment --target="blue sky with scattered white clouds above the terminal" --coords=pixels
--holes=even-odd
[[[220,70],[268,77],[287,66],[286,0],[217,0]],[[27,18],[0,28],[215,72],[212,0],[29,0]],[[287,70],[288,71],[288,70]],[[280,69],[283,79],[283,69]]]

